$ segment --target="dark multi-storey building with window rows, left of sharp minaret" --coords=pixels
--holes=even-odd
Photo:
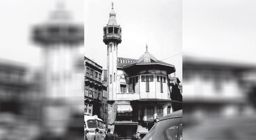
[[[98,115],[107,123],[107,89],[102,83],[102,66],[87,57],[84,64],[84,115]]]

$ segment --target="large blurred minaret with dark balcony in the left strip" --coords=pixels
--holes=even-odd
[[[65,137],[64,134],[73,133],[70,131],[80,126],[76,120],[80,119],[82,124],[84,117],[83,54],[80,52],[84,47],[84,25],[74,23],[72,13],[59,2],[46,22],[34,26],[33,41],[42,48],[42,135]],[[80,133],[73,137],[82,136]]]

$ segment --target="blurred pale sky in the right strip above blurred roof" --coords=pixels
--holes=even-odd
[[[256,63],[255,0],[183,0],[183,55]]]

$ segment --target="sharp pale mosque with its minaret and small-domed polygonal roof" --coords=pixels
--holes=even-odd
[[[131,138],[132,132],[147,133],[151,123],[173,112],[170,80],[175,72],[171,64],[157,60],[147,50],[139,59],[117,57],[122,42],[122,28],[116,13],[103,27],[107,46],[108,127],[121,137]]]

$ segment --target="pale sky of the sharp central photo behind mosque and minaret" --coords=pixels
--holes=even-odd
[[[129,0],[114,2],[117,24],[122,27],[122,43],[117,57],[139,59],[148,51],[158,60],[175,66],[182,80],[182,1]],[[111,1],[85,2],[85,56],[106,69],[107,52],[103,26],[109,20]],[[177,55],[180,54],[180,55]]]

